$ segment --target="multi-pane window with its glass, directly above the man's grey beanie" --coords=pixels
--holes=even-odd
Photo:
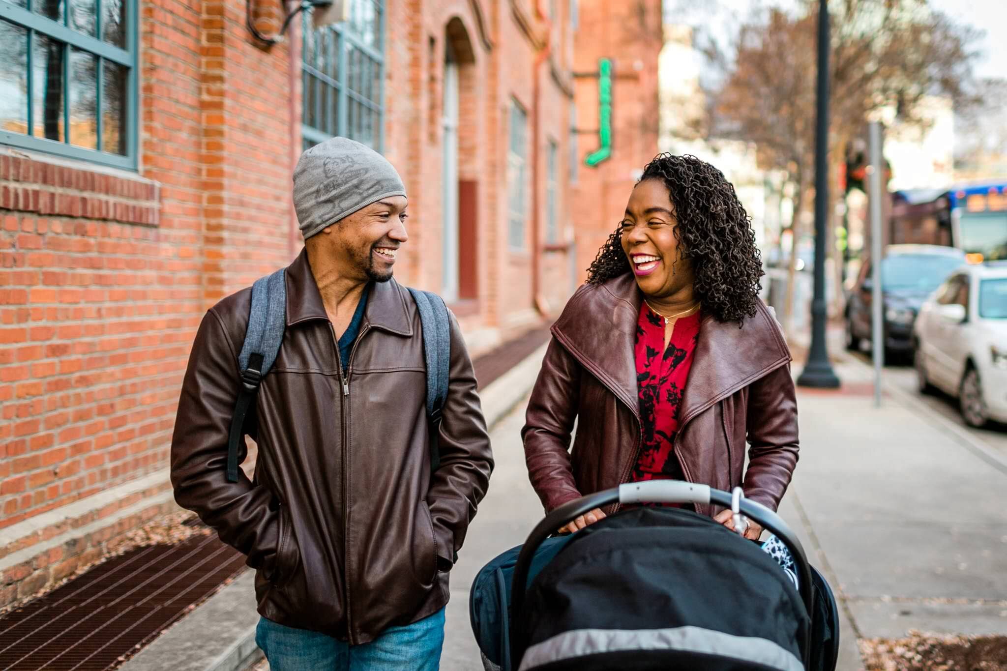
[[[384,4],[381,0],[347,1],[349,20],[345,23],[315,30],[310,16],[304,19],[304,149],[335,136],[383,149]]]

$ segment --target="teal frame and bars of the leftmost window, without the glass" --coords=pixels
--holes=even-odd
[[[87,35],[82,32],[78,32],[69,27],[69,19],[71,12],[68,8],[63,10],[62,20],[50,19],[42,14],[31,11],[31,4],[33,2],[38,2],[38,0],[28,0],[27,8],[19,7],[13,3],[7,2],[7,0],[0,0],[0,17],[9,23],[21,26],[28,30],[28,53],[27,53],[27,86],[28,86],[28,134],[14,133],[11,131],[5,131],[0,129],[0,145],[9,145],[11,147],[18,147],[20,149],[27,149],[32,151],[44,152],[46,154],[54,154],[56,156],[61,156],[63,158],[76,159],[81,161],[87,161],[89,163],[96,163],[99,165],[109,166],[113,168],[123,168],[126,170],[137,169],[137,148],[138,148],[138,120],[139,120],[139,89],[138,89],[138,58],[137,58],[137,11],[138,3],[137,0],[122,0],[126,5],[126,47],[120,48],[115,44],[110,44],[106,42],[101,37],[95,37],[93,35]],[[68,3],[67,3],[68,4]],[[95,22],[96,22],[96,35],[103,34],[102,19],[104,18],[102,14],[102,0],[95,0]],[[63,140],[49,140],[46,138],[38,138],[31,133],[34,132],[34,110],[32,109],[33,98],[33,88],[34,88],[34,77],[32,76],[32,66],[31,62],[34,55],[34,41],[35,35],[41,34],[49,39],[56,40],[63,44],[63,81],[66,86],[66,93],[63,95],[62,100],[62,121],[63,121]],[[78,147],[76,145],[69,144],[70,141],[70,77],[69,77],[69,49],[78,48],[82,51],[87,51],[94,54],[97,58],[97,69],[98,69],[98,92],[97,92],[97,102],[96,102],[96,114],[98,116],[98,147],[102,146],[103,132],[102,132],[102,106],[105,103],[104,97],[104,87],[105,87],[105,66],[106,61],[110,61],[119,65],[123,65],[129,68],[129,75],[127,76],[128,91],[126,92],[126,123],[124,125],[123,132],[126,135],[126,155],[114,154],[110,152],[102,151],[101,149],[88,149],[86,147]],[[7,67],[7,64],[0,63],[0,67]]]

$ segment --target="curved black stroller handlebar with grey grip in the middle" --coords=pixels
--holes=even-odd
[[[521,549],[518,556],[518,563],[514,569],[514,582],[512,584],[512,616],[511,616],[511,659],[515,664],[520,664],[522,657],[528,646],[522,639],[521,633],[515,626],[517,618],[521,615],[525,606],[525,592],[528,583],[528,572],[531,566],[535,551],[556,529],[569,524],[572,520],[595,508],[609,505],[611,503],[638,504],[638,503],[693,503],[710,505],[715,504],[727,509],[731,509],[732,496],[729,492],[713,489],[709,485],[697,485],[681,480],[651,480],[648,482],[634,482],[619,485],[612,489],[606,489],[595,494],[582,496],[579,499],[570,501],[552,511],[539,522],[528,541]],[[797,535],[783,519],[760,503],[742,498],[738,503],[741,514],[755,520],[763,528],[779,538],[794,557],[795,568],[798,572],[800,583],[799,592],[805,604],[809,617],[815,612],[815,589],[812,583],[812,567],[805,554],[805,548],[801,545]],[[811,664],[811,637],[809,636],[802,650],[802,661],[805,668]]]

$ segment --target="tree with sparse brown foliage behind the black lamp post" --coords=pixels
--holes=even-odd
[[[764,167],[786,171],[798,185],[783,308],[787,324],[800,232],[794,224],[814,181],[818,5],[803,0],[797,12],[769,8],[745,21],[732,44],[705,48],[724,71],[711,92],[711,133],[755,142]],[[902,120],[925,123],[918,113],[926,96],[949,96],[959,106],[975,102],[969,86],[976,54],[970,45],[977,31],[932,10],[926,0],[833,0],[829,8],[834,168],[876,110],[892,108]]]

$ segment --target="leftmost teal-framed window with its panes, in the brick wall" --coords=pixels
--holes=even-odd
[[[0,0],[0,143],[136,167],[136,1]]]

